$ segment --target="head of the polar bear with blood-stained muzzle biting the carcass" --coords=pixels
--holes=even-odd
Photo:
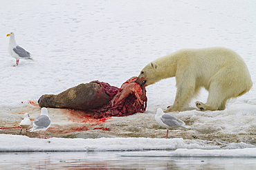
[[[149,63],[146,65],[143,70],[141,70],[140,75],[138,76],[136,83],[139,83],[141,86],[152,85],[157,81],[160,81],[162,78],[158,73],[158,67],[156,63]]]

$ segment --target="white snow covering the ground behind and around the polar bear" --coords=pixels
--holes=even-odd
[[[150,61],[185,47],[223,46],[235,50],[248,65],[255,82],[255,8],[253,0],[2,1],[1,124],[20,122],[21,119],[10,117],[10,109],[29,107],[34,111],[35,108],[28,104],[31,98],[38,100],[42,94],[58,94],[69,87],[95,80],[120,87],[131,76],[138,76]],[[32,54],[35,62],[22,60],[17,67],[12,67],[15,59],[7,51],[8,32],[15,32],[17,43]],[[172,105],[175,94],[175,78],[150,85],[147,87],[146,113],[113,118],[113,123],[125,123],[143,116],[154,118],[158,107],[164,109]],[[1,134],[0,151],[176,149],[170,156],[255,156],[256,138],[252,137],[256,133],[255,87],[244,96],[229,100],[224,111],[197,111],[194,102],[205,102],[207,96],[208,92],[202,89],[190,103],[191,110],[173,113],[173,116],[189,121],[193,131],[186,133],[197,133],[196,136],[206,136],[211,141],[217,134],[225,138],[241,134],[244,142],[235,138],[239,142],[225,145],[221,142],[225,147],[222,148],[216,140],[214,145],[208,145],[210,142],[206,139],[43,140]],[[62,122],[55,123],[60,125]],[[130,126],[135,128],[137,125]]]

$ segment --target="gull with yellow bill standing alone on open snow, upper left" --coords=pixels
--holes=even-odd
[[[13,58],[16,59],[16,65],[13,65],[13,67],[18,66],[19,59],[34,61],[30,57],[29,52],[27,52],[26,50],[24,50],[24,48],[17,45],[17,43],[15,41],[15,33],[10,32],[10,34],[7,34],[6,36],[10,36],[9,45],[8,45],[8,52],[9,52],[10,56],[12,56]]]

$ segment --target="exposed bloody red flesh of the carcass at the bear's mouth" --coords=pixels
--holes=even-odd
[[[137,77],[129,78],[118,91],[116,91],[117,87],[107,86],[111,100],[102,107],[91,110],[94,112],[94,118],[129,116],[137,112],[144,112],[147,107],[146,89],[135,83],[136,79]],[[114,90],[109,90],[111,88]]]

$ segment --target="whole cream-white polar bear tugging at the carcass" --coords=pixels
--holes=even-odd
[[[196,102],[201,111],[223,110],[226,101],[241,96],[253,86],[248,67],[237,53],[224,47],[183,49],[152,61],[141,70],[136,82],[152,85],[176,77],[174,104],[165,113],[181,111],[201,87],[208,90],[207,103]]]

